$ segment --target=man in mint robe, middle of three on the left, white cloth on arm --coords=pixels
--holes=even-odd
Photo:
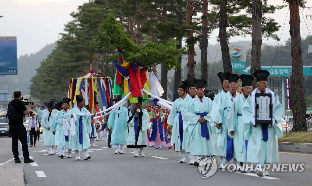
[[[68,149],[68,141],[70,138],[70,125],[66,120],[69,114],[68,107],[70,101],[70,98],[63,98],[63,110],[59,111],[54,118],[54,122],[56,123],[55,145],[59,146],[61,158],[65,156],[65,149]],[[71,158],[71,149],[67,150],[67,158]]]

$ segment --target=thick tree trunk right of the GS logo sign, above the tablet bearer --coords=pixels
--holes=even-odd
[[[252,0],[252,35],[251,35],[251,67],[250,73],[261,70],[261,19],[262,19],[262,1]],[[256,88],[256,79],[252,81],[252,87]]]

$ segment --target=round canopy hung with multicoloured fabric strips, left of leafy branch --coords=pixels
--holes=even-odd
[[[77,103],[76,95],[84,97],[85,105],[89,105],[91,113],[95,113],[94,110],[99,112],[99,103],[103,106],[103,110],[114,105],[110,77],[95,74],[91,70],[83,76],[71,78],[68,88],[68,97],[72,100],[70,109]]]

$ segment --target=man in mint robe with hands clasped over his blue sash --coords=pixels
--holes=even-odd
[[[205,80],[196,80],[197,97],[188,104],[188,132],[190,135],[191,154],[195,156],[194,165],[198,167],[199,162],[206,155],[213,154],[211,122],[212,100],[204,96]]]

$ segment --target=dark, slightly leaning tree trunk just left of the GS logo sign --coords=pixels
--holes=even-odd
[[[230,49],[227,45],[227,0],[222,0],[220,4],[219,39],[221,46],[223,71],[232,73]]]

